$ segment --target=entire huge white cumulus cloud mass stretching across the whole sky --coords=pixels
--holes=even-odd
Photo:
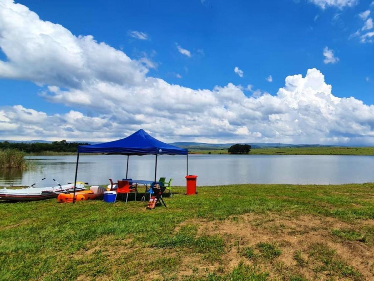
[[[47,85],[45,99],[95,112],[46,114],[3,106],[3,139],[106,141],[143,128],[164,141],[374,143],[374,106],[334,96],[317,69],[287,76],[274,96],[247,96],[232,83],[195,90],[147,76],[146,65],[42,21],[21,4],[0,3],[0,47],[6,55],[0,75]],[[60,52],[67,61],[56,56]],[[127,74],[119,76],[117,68]]]

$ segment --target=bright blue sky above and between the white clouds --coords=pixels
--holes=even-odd
[[[6,0],[2,1],[10,3]],[[320,73],[323,73],[324,82],[332,85],[331,94],[334,97],[354,97],[356,100],[362,101],[364,105],[374,103],[373,43],[369,42],[371,37],[367,37],[368,40],[365,42],[360,39],[362,35],[373,31],[372,28],[362,30],[365,22],[374,14],[372,1],[191,0],[110,1],[104,3],[103,1],[56,0],[16,1],[16,3],[28,7],[42,21],[62,25],[75,37],[92,35],[96,42],[105,42],[105,44],[114,49],[122,51],[131,60],[139,61],[143,64],[147,69],[145,77],[160,78],[169,84],[180,85],[186,89],[214,91],[215,87],[224,88],[229,83],[232,83],[235,86],[235,90],[241,88],[242,93],[248,98],[257,98],[263,96],[264,93],[277,96],[279,88],[285,87],[285,78],[287,76],[301,74],[304,77],[308,69],[315,68]],[[12,5],[12,3],[9,4],[9,7]],[[369,10],[370,14],[362,18],[359,14],[366,10]],[[7,15],[9,11],[4,10],[4,13]],[[9,25],[3,26],[10,29],[14,28],[13,30],[19,28]],[[359,34],[353,35],[358,30]],[[134,33],[135,31],[136,33]],[[40,33],[38,34],[40,35]],[[142,34],[142,38],[137,37],[136,34]],[[16,45],[15,40],[10,39],[10,43],[8,43]],[[20,38],[20,42],[28,44],[27,33],[24,38]],[[0,47],[3,51],[0,54],[0,59],[10,62],[14,60],[19,72],[25,72],[25,69],[35,67],[32,63],[23,63],[22,65],[17,63],[16,58],[7,54],[10,51],[7,51],[1,44]],[[17,46],[14,46],[14,48],[17,48]],[[331,62],[329,63],[324,62],[325,56],[323,53],[325,48],[333,56],[332,61],[330,60]],[[34,49],[33,51],[35,52]],[[47,59],[52,60],[51,56]],[[40,63],[43,64],[43,59]],[[105,67],[111,67],[104,64],[97,66],[104,72]],[[58,68],[59,66],[56,67]],[[234,72],[235,67],[239,69],[237,73]],[[240,70],[243,74],[239,76],[238,73],[241,74]],[[53,67],[51,70],[51,65],[49,64],[43,71],[52,73]],[[63,96],[66,96],[67,92],[71,92],[72,88],[74,88],[65,80],[60,80],[61,83],[58,82],[59,75],[61,73],[58,73],[58,71],[56,71],[53,79],[50,77],[45,79],[44,75],[40,75],[40,77],[24,74],[15,76],[1,75],[0,89],[4,94],[2,95],[0,106],[22,105],[27,109],[42,111],[50,117],[56,114],[63,115],[73,110],[74,112],[81,112],[88,117],[98,117],[101,120],[107,118],[106,121],[109,122],[118,121],[122,118],[118,116],[108,117],[107,111],[86,103],[74,103],[65,99],[65,97],[57,99],[55,93],[49,93],[48,86],[56,86],[61,90],[65,90]],[[272,77],[271,82],[267,79],[270,75]],[[123,82],[118,84],[122,87],[129,87]],[[252,85],[251,91],[246,90],[248,85]],[[75,87],[74,90],[77,88],[82,90],[82,87]],[[259,91],[256,92],[256,90]],[[101,95],[93,93],[92,89],[86,89],[85,91],[85,93],[95,96],[95,98]],[[315,94],[318,94],[318,91]],[[171,99],[175,98],[176,95],[171,94]],[[102,99],[107,101],[107,97],[102,96]],[[125,98],[121,101],[122,103],[125,112],[135,114],[134,112],[126,111]],[[238,103],[240,104],[241,102]],[[256,100],[256,103],[264,104],[261,100]],[[227,104],[222,103],[219,107],[226,110],[230,109],[232,104],[233,100]],[[143,106],[141,97],[138,104],[132,106],[141,108]],[[162,103],[156,103],[154,106],[162,107],[163,105]],[[206,105],[195,103],[195,106],[203,108]],[[168,121],[175,121],[175,124],[170,125],[170,130],[175,129],[176,124],[179,122],[177,120],[178,110],[181,109],[172,109],[171,111],[174,112],[174,115],[166,118]],[[234,109],[230,110],[234,112]],[[280,112],[278,109],[274,109],[271,114],[258,108],[253,110],[261,112],[263,115],[268,114],[265,118],[267,121],[271,118],[285,121],[287,124],[283,124],[283,128],[289,125],[288,123],[292,118],[295,118],[292,114],[292,118],[290,117],[291,115],[287,117],[275,116]],[[355,108],[354,110],[359,109]],[[367,108],[367,110],[368,114],[371,114],[371,109]],[[281,111],[282,114],[285,114],[283,109]],[[323,110],[321,112],[323,114]],[[339,108],[335,111],[335,113],[337,112],[341,112],[341,109]],[[237,114],[237,112],[234,113]],[[193,111],[190,110],[184,112],[184,114],[186,116],[194,115]],[[229,116],[231,113],[226,112],[226,114]],[[299,110],[298,114],[300,114]],[[301,116],[305,117],[309,114],[310,112],[301,114]],[[227,121],[227,130],[222,130],[220,133],[212,133],[199,127],[195,128],[193,132],[187,132],[188,130],[186,129],[187,131],[185,130],[179,134],[175,133],[172,139],[224,142],[242,139],[243,136],[247,136],[246,140],[248,141],[306,142],[310,139],[313,142],[371,143],[371,119],[357,120],[357,124],[352,124],[352,130],[346,131],[336,128],[338,127],[337,124],[323,129],[316,128],[321,133],[321,136],[311,139],[310,136],[315,136],[315,133],[309,132],[309,127],[306,129],[302,127],[291,128],[283,136],[279,136],[275,132],[278,129],[271,129],[269,124],[261,131],[260,129],[252,128],[252,125],[249,126],[245,122],[243,123],[240,117],[237,117],[240,120],[232,120],[231,117],[227,116],[218,118],[217,122],[226,124],[225,122]],[[331,121],[328,114],[325,117]],[[143,124],[149,125],[146,127],[153,133],[165,138],[163,133],[165,127],[154,129],[155,124],[149,118],[147,122],[143,120]],[[251,118],[248,117],[246,122],[253,123]],[[336,120],[340,119],[340,117],[334,118]],[[7,119],[10,118],[7,117]],[[182,119],[185,120],[186,118],[183,117]],[[347,119],[350,120],[352,118],[347,117]],[[128,120],[126,122],[128,122],[126,123],[128,126],[123,128],[125,134],[126,132],[131,132],[137,126],[142,126],[142,122],[136,120]],[[312,120],[311,122],[306,123],[304,126],[311,126],[311,124],[316,124],[317,121]],[[321,122],[324,121],[321,120]],[[213,122],[213,124],[215,123],[216,121]],[[158,124],[158,121],[156,124]],[[261,123],[257,127],[261,127],[260,125],[263,126]],[[278,125],[280,126],[280,124]],[[63,130],[64,126],[66,127],[67,125],[64,123],[61,126]],[[183,124],[183,126],[188,127],[188,124]],[[233,128],[230,126],[239,127]],[[355,128],[357,129],[360,126],[362,127],[361,131],[353,132]],[[244,127],[247,127],[248,130]],[[76,131],[77,128],[72,127],[72,130]],[[271,130],[275,131],[270,132]],[[300,130],[300,132],[292,135],[290,133],[291,130]],[[3,138],[8,136],[32,139],[35,137],[27,135],[26,132],[29,131],[25,130],[25,133],[17,135],[15,132],[4,130]],[[78,138],[79,136],[77,131],[75,135],[69,135],[68,132],[61,131],[60,133],[66,138]],[[245,132],[249,133],[249,135],[246,135]],[[42,131],[40,131],[40,134],[42,134],[41,138],[59,138],[58,135],[48,135],[48,133],[42,133]],[[258,137],[259,134],[261,137]],[[105,132],[104,138],[112,139],[117,137],[117,135],[110,135],[109,132]],[[335,136],[337,139],[334,139]]]

